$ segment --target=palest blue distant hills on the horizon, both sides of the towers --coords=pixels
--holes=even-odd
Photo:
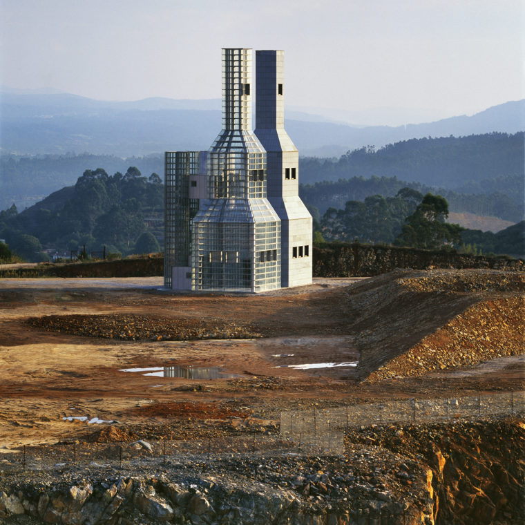
[[[338,124],[352,114],[312,109],[288,111],[286,128],[300,154],[338,156],[361,146],[384,146],[420,137],[472,135],[525,129],[525,99],[506,102],[470,117],[428,124],[353,126]],[[67,93],[9,93],[0,97],[0,153],[68,152],[142,156],[173,150],[207,149],[221,128],[220,100],[149,98],[108,102]],[[340,118],[338,118],[340,117]]]

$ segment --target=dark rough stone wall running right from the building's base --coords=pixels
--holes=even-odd
[[[325,242],[314,246],[314,277],[369,277],[397,268],[484,268],[524,271],[524,260],[455,251]]]

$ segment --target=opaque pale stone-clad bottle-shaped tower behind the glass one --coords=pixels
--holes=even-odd
[[[285,131],[284,52],[256,51],[255,134],[267,152],[267,197],[281,222],[281,286],[312,283],[312,216],[299,198],[299,153]]]

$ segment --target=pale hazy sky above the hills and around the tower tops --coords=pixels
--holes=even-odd
[[[525,0],[0,0],[1,84],[220,97],[220,48],[285,50],[287,104],[472,114],[524,95]]]

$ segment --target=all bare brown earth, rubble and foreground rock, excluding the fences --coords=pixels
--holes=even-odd
[[[358,423],[341,455],[146,450],[3,470],[23,446],[277,439],[281,410],[524,388],[521,272],[394,271],[258,296],[160,294],[152,279],[0,280],[0,523],[523,522],[520,414]],[[124,371],[141,367],[155,372]]]

